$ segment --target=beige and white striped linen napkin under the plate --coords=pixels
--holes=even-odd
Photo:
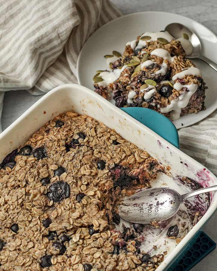
[[[26,89],[41,95],[56,86],[77,83],[82,45],[97,28],[122,15],[109,0],[0,3],[0,117],[5,91]],[[180,129],[179,138],[182,151],[217,175],[216,115],[217,111]]]

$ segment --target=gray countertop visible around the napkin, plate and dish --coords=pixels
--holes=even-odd
[[[129,14],[139,11],[167,11],[190,17],[202,23],[217,35],[217,1],[202,0],[112,0],[123,12]],[[153,18],[154,20],[154,18]],[[2,111],[2,129],[7,128],[24,113],[41,96],[32,96],[26,91],[9,91],[5,93]],[[203,227],[213,241],[217,242],[217,213]],[[197,264],[193,271],[217,270],[217,250]]]

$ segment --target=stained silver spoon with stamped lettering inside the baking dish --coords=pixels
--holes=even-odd
[[[217,185],[183,195],[167,187],[150,188],[124,200],[118,208],[118,214],[132,223],[159,222],[174,216],[181,203],[188,198],[211,191],[217,191]]]

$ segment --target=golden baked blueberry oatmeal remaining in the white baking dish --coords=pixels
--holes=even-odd
[[[1,270],[155,270],[143,226],[120,224],[126,195],[150,187],[158,161],[91,117],[66,112],[0,164]]]

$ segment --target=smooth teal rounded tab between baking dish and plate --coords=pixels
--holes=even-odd
[[[144,107],[121,107],[121,109],[152,131],[156,132],[172,145],[179,148],[177,129],[167,117]]]

